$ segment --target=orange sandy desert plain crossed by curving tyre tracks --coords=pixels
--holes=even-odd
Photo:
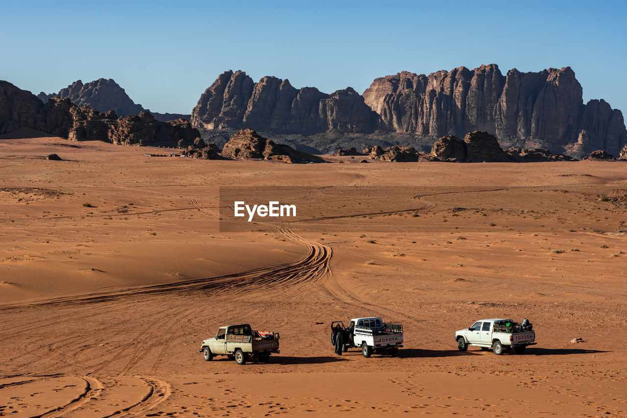
[[[627,161],[144,156],[169,151],[0,140],[0,415],[627,415]],[[220,232],[219,186],[339,215]],[[332,198],[375,186],[374,212]],[[397,357],[334,354],[331,321],[359,316],[403,324]],[[537,345],[458,351],[483,318],[529,318]],[[234,323],[281,353],[205,362]]]

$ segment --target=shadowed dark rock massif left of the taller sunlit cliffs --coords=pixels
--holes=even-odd
[[[276,77],[255,83],[245,72],[228,71],[201,95],[191,122],[203,129],[248,127],[294,134],[374,132],[379,115],[350,87],[329,95],[317,88],[294,88]]]

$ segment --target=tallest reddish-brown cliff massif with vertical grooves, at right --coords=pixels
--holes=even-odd
[[[505,146],[579,154],[616,154],[627,143],[620,110],[604,100],[584,105],[569,67],[529,73],[514,68],[505,76],[494,64],[428,76],[401,72],[374,80],[364,99],[388,130],[434,139],[486,131]]]

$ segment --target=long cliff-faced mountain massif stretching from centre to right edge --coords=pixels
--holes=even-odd
[[[627,144],[621,111],[603,99],[583,104],[569,67],[529,73],[514,68],[507,75],[495,64],[429,75],[401,72],[377,78],[363,95],[350,87],[330,95],[297,89],[275,77],[255,83],[244,72],[228,71],[201,95],[191,122],[201,130],[250,127],[269,137],[404,133],[430,144],[486,131],[505,147],[579,158],[596,149],[618,154]]]

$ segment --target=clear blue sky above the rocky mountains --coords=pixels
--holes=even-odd
[[[189,113],[220,73],[363,92],[376,77],[497,63],[573,68],[584,101],[627,112],[627,1],[6,1],[0,79],[58,92],[113,78]]]

